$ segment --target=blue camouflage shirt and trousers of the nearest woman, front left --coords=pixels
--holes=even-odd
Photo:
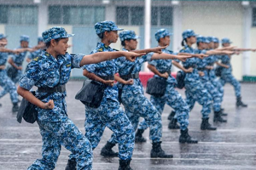
[[[26,73],[20,79],[20,87],[30,90],[33,86],[38,88],[53,88],[58,84],[68,82],[71,69],[79,68],[84,54],[65,54],[54,58],[45,50],[27,65]],[[36,92],[40,98],[46,93]],[[44,110],[36,107],[38,111],[38,126],[43,139],[42,159],[35,161],[29,170],[54,169],[61,145],[70,150],[76,161],[78,169],[92,169],[92,149],[88,139],[79,131],[79,128],[67,116],[66,92],[49,94],[42,99],[44,103],[53,99],[55,107]]]

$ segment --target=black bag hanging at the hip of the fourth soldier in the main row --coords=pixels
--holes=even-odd
[[[149,78],[146,93],[155,97],[161,97],[166,94],[167,79],[161,77]]]

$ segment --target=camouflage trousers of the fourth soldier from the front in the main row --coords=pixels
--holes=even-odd
[[[179,94],[173,84],[168,84],[166,87],[166,94],[162,97],[150,97],[150,101],[160,112],[163,112],[165,105],[170,105],[174,111],[176,111],[175,117],[177,122],[181,125],[181,129],[185,130],[189,126],[189,106]],[[148,127],[147,122],[140,122],[139,129],[146,129]]]

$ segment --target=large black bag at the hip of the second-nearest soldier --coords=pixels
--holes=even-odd
[[[84,105],[98,108],[102,103],[102,98],[107,85],[87,79],[83,87],[76,94],[75,99],[79,99]]]

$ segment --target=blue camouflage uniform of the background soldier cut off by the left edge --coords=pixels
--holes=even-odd
[[[8,59],[8,53],[0,53],[0,65],[5,65]],[[11,81],[11,79],[7,76],[5,70],[0,70],[0,86],[3,90],[0,92],[0,99],[5,95],[10,95],[10,99],[13,104],[18,103],[18,94],[17,89],[15,87],[15,83]]]

